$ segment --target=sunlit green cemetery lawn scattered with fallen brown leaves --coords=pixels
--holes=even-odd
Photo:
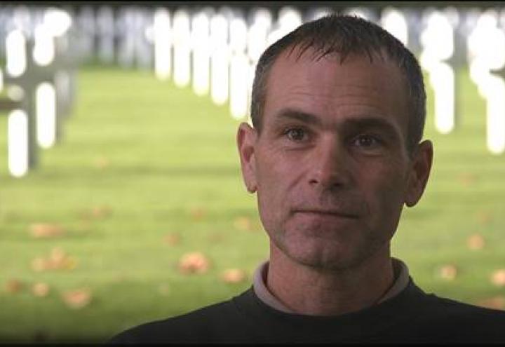
[[[505,157],[459,74],[453,134],[435,132],[429,94],[433,172],[392,251],[426,292],[504,309]],[[77,86],[61,143],[22,179],[0,116],[2,342],[105,341],[240,293],[268,254],[226,106],[151,72],[86,67]]]

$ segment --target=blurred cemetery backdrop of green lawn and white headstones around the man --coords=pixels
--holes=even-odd
[[[0,342],[101,342],[250,286],[268,243],[235,146],[262,51],[330,11],[419,58],[431,180],[393,256],[505,309],[499,2],[0,4]]]

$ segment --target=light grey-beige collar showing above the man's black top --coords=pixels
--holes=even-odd
[[[409,272],[407,265],[400,259],[392,258],[392,261],[395,280],[389,290],[387,290],[379,301],[377,301],[377,304],[391,299],[392,297],[396,297],[396,295],[400,294],[400,292],[408,285]],[[262,264],[256,268],[253,277],[253,290],[255,291],[255,294],[261,301],[264,302],[264,304],[267,304],[278,311],[294,313],[290,310],[290,308],[286,307],[283,303],[281,303],[281,301],[274,297],[274,295],[267,289],[267,285],[265,283],[267,282],[268,264],[268,260],[263,261]]]

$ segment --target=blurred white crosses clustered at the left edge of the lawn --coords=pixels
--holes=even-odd
[[[3,40],[6,66],[0,69],[1,114],[7,114],[7,166],[22,177],[39,162],[39,148],[62,137],[69,116],[79,63],[65,11],[36,9],[34,26],[18,25]]]

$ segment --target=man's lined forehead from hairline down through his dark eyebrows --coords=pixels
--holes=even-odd
[[[406,130],[408,94],[396,64],[379,56],[370,61],[368,56],[356,54],[340,62],[339,53],[318,60],[313,48],[299,53],[299,48],[285,50],[271,69],[265,100],[264,116],[271,117],[265,119],[267,123],[283,113],[305,112],[324,116],[326,121],[334,116],[367,119],[349,123],[353,125],[372,124],[373,118],[383,118],[396,130]],[[293,109],[302,113],[291,112]]]

